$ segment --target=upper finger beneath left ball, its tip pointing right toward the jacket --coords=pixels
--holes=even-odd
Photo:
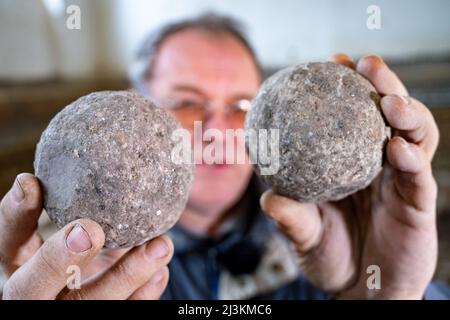
[[[169,237],[155,238],[133,248],[109,270],[81,290],[72,290],[65,299],[128,299],[169,263],[172,254],[173,244]]]

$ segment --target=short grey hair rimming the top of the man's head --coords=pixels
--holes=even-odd
[[[151,32],[142,42],[132,63],[128,77],[133,87],[142,95],[148,96],[147,82],[151,77],[156,56],[162,43],[171,35],[187,29],[199,29],[214,35],[228,35],[238,40],[252,56],[255,66],[261,73],[256,54],[243,33],[240,22],[214,13],[172,22]]]

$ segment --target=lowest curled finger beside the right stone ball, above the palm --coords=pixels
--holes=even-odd
[[[401,137],[394,137],[387,145],[387,159],[395,169],[399,196],[416,211],[433,212],[437,187],[425,152]]]

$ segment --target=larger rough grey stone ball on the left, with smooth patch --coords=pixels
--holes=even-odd
[[[172,227],[185,207],[192,165],[171,161],[175,120],[127,91],[103,91],[65,107],[36,148],[35,174],[58,227],[90,218],[105,247],[129,247]]]

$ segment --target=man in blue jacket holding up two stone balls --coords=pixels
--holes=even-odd
[[[194,121],[222,132],[242,128],[245,101],[256,94],[261,74],[230,19],[210,15],[169,25],[138,58],[135,87],[186,129],[192,131]],[[446,287],[429,284],[437,255],[433,117],[379,57],[356,66],[345,55],[332,60],[373,83],[395,129],[388,164],[369,188],[318,204],[269,190],[260,208],[264,187],[249,164],[200,164],[170,232],[174,246],[161,236],[133,249],[100,251],[103,232],[86,219],[42,244],[36,234],[42,193],[32,175],[22,174],[1,203],[1,261],[11,274],[4,298],[450,297]],[[83,270],[80,290],[64,289],[70,265]],[[368,286],[370,266],[379,267],[380,287]]]

